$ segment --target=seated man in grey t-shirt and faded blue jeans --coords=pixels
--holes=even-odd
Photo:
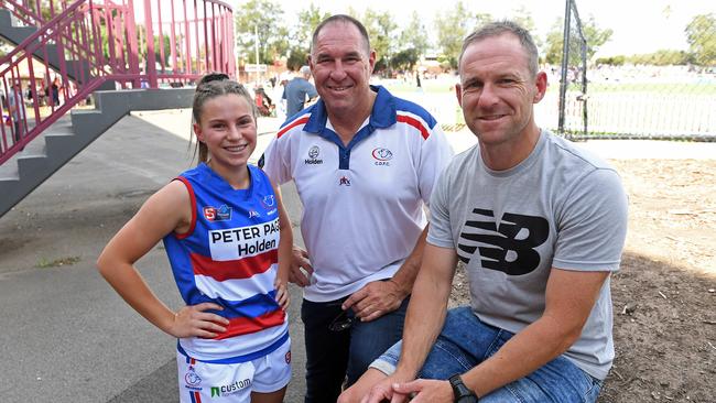
[[[456,92],[479,143],[433,192],[402,342],[339,402],[596,401],[614,358],[609,274],[627,197],[605,162],[534,122],[547,84],[536,61],[511,22],[465,40]],[[446,313],[458,259],[471,306]]]

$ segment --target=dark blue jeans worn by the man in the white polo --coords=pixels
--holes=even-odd
[[[345,299],[303,299],[301,305],[306,344],[305,403],[335,403],[346,377],[347,385],[355,383],[376,358],[403,336],[410,297],[397,311],[376,320],[356,319],[345,330],[332,330],[330,324],[341,314]],[[352,311],[348,309],[348,316],[354,317]]]

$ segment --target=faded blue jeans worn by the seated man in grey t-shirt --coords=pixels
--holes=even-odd
[[[469,306],[451,309],[419,377],[445,380],[455,373],[465,373],[496,353],[512,336],[480,322]],[[371,367],[388,373],[394,371],[401,344],[397,342]],[[600,391],[600,380],[560,356],[529,375],[480,397],[480,402],[586,403],[596,402]]]

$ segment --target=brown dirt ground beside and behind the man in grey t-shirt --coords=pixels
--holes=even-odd
[[[716,402],[716,161],[611,160],[629,194],[600,403]],[[455,279],[452,304],[467,303]]]

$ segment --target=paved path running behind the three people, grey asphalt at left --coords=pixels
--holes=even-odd
[[[128,307],[94,262],[150,194],[192,165],[188,121],[188,111],[122,119],[0,217],[0,401],[177,401],[173,339]],[[260,121],[257,157],[278,126],[275,119]],[[457,151],[475,142],[467,131],[448,138]],[[716,144],[584,145],[607,157],[716,157]],[[301,206],[292,186],[284,197],[295,227]],[[161,247],[139,266],[164,302],[180,306]],[[290,403],[302,401],[305,362],[300,290],[292,294]]]

